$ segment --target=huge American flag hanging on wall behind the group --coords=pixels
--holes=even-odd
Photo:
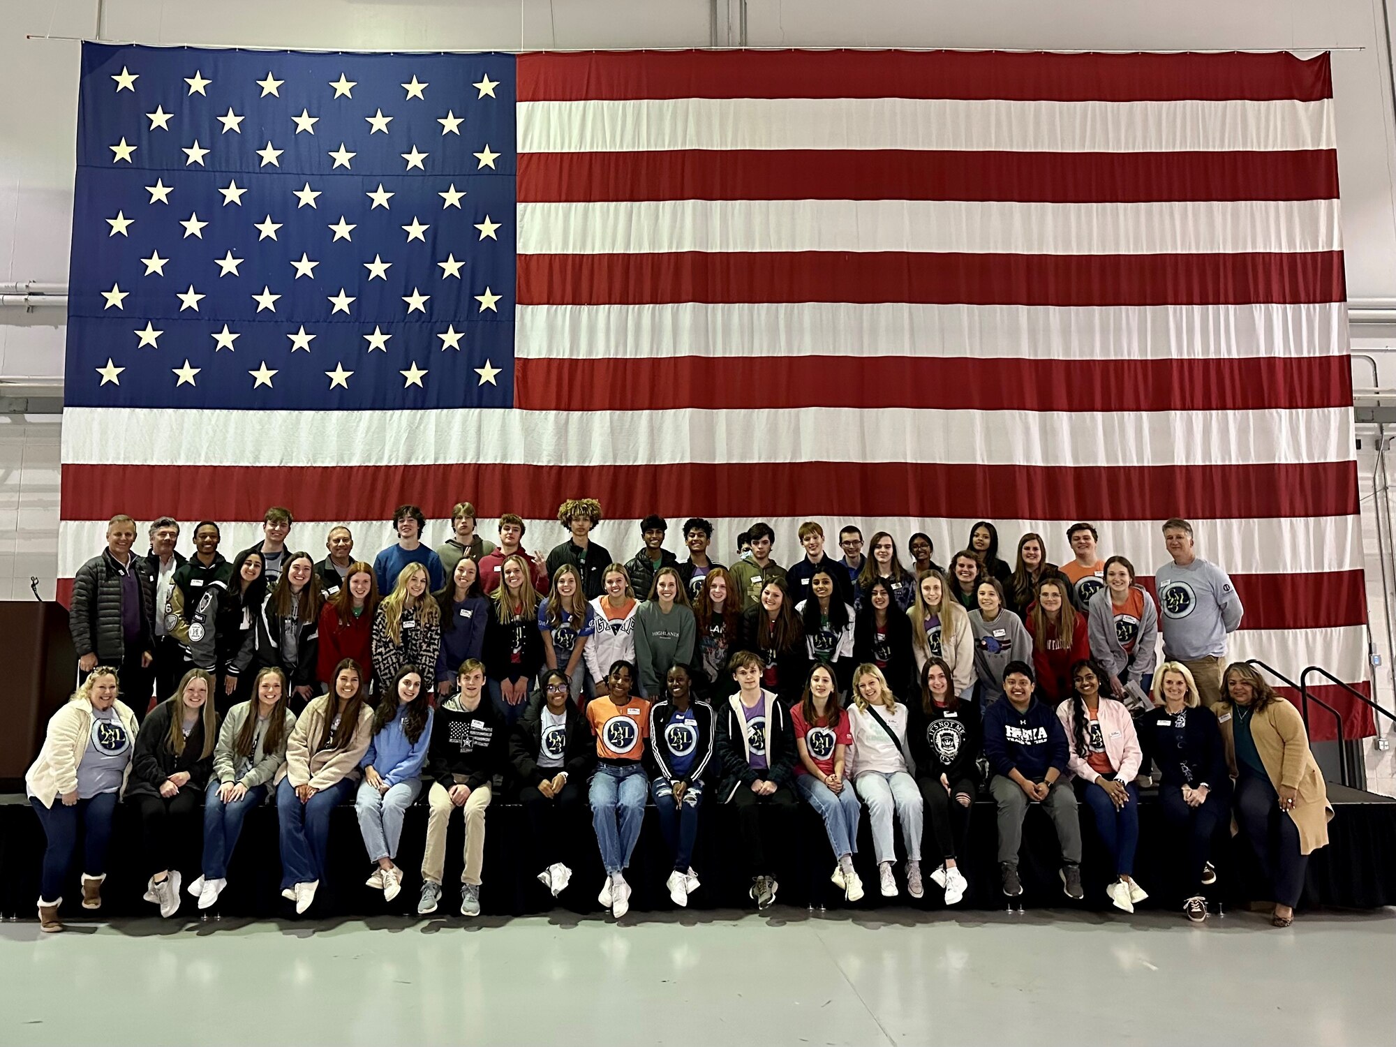
[[[1333,142],[1326,56],[87,45],[60,575],[119,511],[1087,519],[1142,578],[1184,515],[1237,658],[1365,688]]]

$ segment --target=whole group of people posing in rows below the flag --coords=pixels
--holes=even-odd
[[[424,779],[422,914],[441,905],[456,807],[461,913],[480,912],[486,812],[501,789],[528,812],[537,879],[554,896],[572,877],[568,826],[585,794],[606,870],[597,899],[616,917],[630,906],[625,870],[646,803],[673,856],[670,898],[687,903],[705,794],[736,808],[758,907],[776,898],[773,842],[801,799],[825,825],[847,900],[864,893],[853,854],[866,808],[879,893],[900,889],[899,828],[906,892],[923,898],[930,878],[955,905],[969,889],[962,860],[981,789],[997,805],[1005,895],[1022,893],[1022,824],[1039,805],[1057,831],[1062,891],[1083,896],[1085,803],[1114,864],[1110,900],[1132,912],[1148,898],[1134,875],[1146,761],[1187,856],[1187,916],[1206,919],[1212,847],[1234,814],[1275,923],[1293,919],[1332,808],[1295,709],[1248,664],[1223,671],[1242,606],[1226,572],[1195,556],[1187,521],[1163,526],[1157,603],[1128,560],[1097,557],[1090,524],[1068,530],[1071,563],[1051,564],[1027,533],[1011,570],[980,521],[944,571],[924,533],[907,543],[909,568],[885,532],[863,557],[861,532],[845,528],[835,560],[807,522],[805,557],[782,568],[772,529],[755,524],[725,567],[708,556],[708,521],[685,521],[690,557],[678,563],[666,522],[648,517],[644,547],[623,564],[589,539],[593,500],[563,503],[558,521],[568,540],[540,561],[517,515],[500,518],[496,547],[461,503],[452,537],[433,550],[423,514],[403,505],[398,542],[370,565],[343,526],[318,563],[292,551],[282,508],[230,564],[216,524],[195,526],[184,560],[174,521],[155,521],[138,557],[134,522],[113,518],[107,549],[74,579],[87,676],[27,778],[49,840],[40,924],[61,927],[80,828],[82,905],[101,905],[117,796],[140,812],[145,898],[162,914],[180,906],[180,822],[202,808],[202,875],[187,891],[209,907],[247,810],[269,794],[297,913],[322,877],[329,812],[350,797],[367,885],[392,900],[405,814]],[[1156,669],[1160,632],[1167,660]],[[152,677],[162,701],[147,715]],[[924,829],[934,850],[923,875]]]

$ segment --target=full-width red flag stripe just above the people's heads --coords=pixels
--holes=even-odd
[[[836,451],[838,448],[824,448]],[[759,456],[761,448],[751,448]],[[927,448],[934,454],[934,448]],[[868,476],[875,476],[875,483]],[[987,519],[1203,519],[1333,517],[1357,511],[1354,462],[1217,466],[986,466],[923,462],[680,462],[578,465],[162,466],[64,465],[64,518],[392,518],[403,503],[447,518],[469,491],[529,519],[557,514],[558,491],[585,491],[613,518],[960,515]],[[81,511],[81,517],[68,515]]]

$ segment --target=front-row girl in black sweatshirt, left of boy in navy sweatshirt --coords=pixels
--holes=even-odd
[[[979,706],[955,694],[949,663],[931,655],[921,666],[920,701],[906,705],[906,741],[916,766],[916,785],[930,815],[940,868],[931,879],[945,891],[945,905],[958,905],[969,889],[959,868],[967,850],[969,819],[979,789]]]

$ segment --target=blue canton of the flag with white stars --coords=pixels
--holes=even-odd
[[[514,402],[508,54],[82,50],[70,406]]]

